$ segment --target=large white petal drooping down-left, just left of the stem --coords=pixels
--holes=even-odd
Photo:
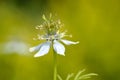
[[[50,42],[43,43],[40,47],[40,50],[34,55],[34,57],[39,57],[47,54],[50,49]]]

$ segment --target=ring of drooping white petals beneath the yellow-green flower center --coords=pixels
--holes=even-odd
[[[65,39],[60,39],[58,38],[49,38],[51,36],[46,37],[46,42],[39,44],[38,46],[35,47],[31,47],[29,49],[30,52],[33,51],[38,51],[34,57],[39,57],[39,56],[43,56],[45,54],[47,54],[49,52],[50,46],[53,46],[53,49],[56,51],[57,54],[60,55],[65,55],[65,47],[63,44],[61,44],[60,42],[63,42],[66,45],[71,45],[71,44],[78,44],[79,42],[73,42],[73,41],[69,41],[69,40],[65,40]]]

